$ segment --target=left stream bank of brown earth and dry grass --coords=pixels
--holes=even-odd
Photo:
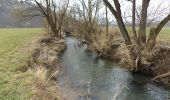
[[[27,62],[33,71],[33,100],[62,100],[57,77],[62,70],[59,57],[66,49],[64,39],[43,36],[33,44],[32,57]]]

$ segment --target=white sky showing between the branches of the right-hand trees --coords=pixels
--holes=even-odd
[[[74,4],[73,1],[79,2],[79,0],[70,0],[70,6],[72,6]],[[88,1],[88,0],[85,0],[85,1]],[[112,2],[112,5],[114,5],[113,0],[108,0],[108,1]],[[128,2],[127,0],[119,0],[119,1],[120,1],[120,4],[121,4],[122,14],[125,15],[125,16],[129,16],[129,14],[131,14],[130,9],[132,7],[132,5],[131,5],[132,3]],[[162,3],[162,5],[157,10],[157,13],[155,15],[151,14],[151,16],[148,17],[148,18],[158,16],[159,17],[158,20],[161,20],[168,13],[170,13],[170,0],[151,0],[150,4],[149,4],[149,8],[148,8],[148,13],[153,13],[158,8],[160,3]],[[136,5],[141,6],[142,0],[136,0]],[[104,13],[105,13],[105,9],[102,8],[99,15],[104,16]],[[109,13],[109,19],[114,20],[114,17],[111,13]],[[126,20],[130,21],[131,18],[127,18]]]

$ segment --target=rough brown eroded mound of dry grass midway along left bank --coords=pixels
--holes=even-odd
[[[50,40],[49,40],[50,39]],[[59,55],[65,49],[64,40],[55,37],[41,38],[34,46],[31,66],[44,66],[49,75],[59,68]]]

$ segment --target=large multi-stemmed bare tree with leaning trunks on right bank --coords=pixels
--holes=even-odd
[[[130,0],[129,0],[130,1]],[[132,57],[132,60],[134,61],[134,64],[137,67],[143,65],[142,61],[142,52],[144,50],[151,51],[156,44],[156,39],[158,34],[160,33],[161,29],[164,27],[164,25],[170,20],[170,14],[167,15],[155,28],[150,29],[149,38],[146,37],[146,23],[147,23],[147,13],[148,13],[148,6],[150,3],[150,0],[142,0],[142,9],[141,9],[141,20],[139,24],[139,31],[137,32],[136,27],[136,0],[131,0],[132,2],[132,33],[133,33],[133,39],[134,43],[132,42],[132,39],[130,38],[130,34],[128,33],[125,23],[123,21],[122,17],[122,10],[120,8],[120,2],[119,0],[113,0],[114,6],[108,1],[103,0],[104,4],[110,9],[111,13],[115,17],[118,27],[120,29],[120,32],[123,36],[123,39],[125,40],[125,44],[127,46],[130,46],[132,48],[129,48],[130,55]],[[136,47],[137,45],[137,47]],[[134,52],[135,51],[135,52]],[[145,51],[145,53],[147,52]]]

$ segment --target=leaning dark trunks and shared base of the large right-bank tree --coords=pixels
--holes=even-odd
[[[149,72],[149,66],[150,62],[148,62],[147,57],[150,57],[150,55],[147,54],[149,48],[153,48],[156,44],[156,38],[161,31],[161,29],[164,27],[164,25],[170,20],[170,14],[163,19],[156,28],[151,28],[149,38],[146,43],[146,21],[147,21],[147,10],[149,6],[150,0],[143,0],[142,3],[142,13],[141,13],[141,21],[139,25],[139,32],[138,32],[138,38],[137,40],[140,42],[137,45],[133,45],[131,42],[131,39],[129,37],[129,34],[127,32],[127,29],[125,27],[125,24],[123,22],[123,18],[121,16],[121,9],[120,9],[120,3],[119,0],[113,0],[114,6],[111,5],[111,3],[108,0],[103,0],[105,5],[110,9],[112,14],[114,15],[118,27],[120,29],[120,32],[125,40],[125,44],[128,46],[131,60],[134,63],[134,66],[136,67],[136,71],[141,72]],[[135,0],[133,0],[133,21],[132,21],[132,29],[134,33],[134,37],[137,37],[137,34],[135,34]],[[147,44],[147,46],[146,46]],[[134,68],[133,68],[134,70]]]

